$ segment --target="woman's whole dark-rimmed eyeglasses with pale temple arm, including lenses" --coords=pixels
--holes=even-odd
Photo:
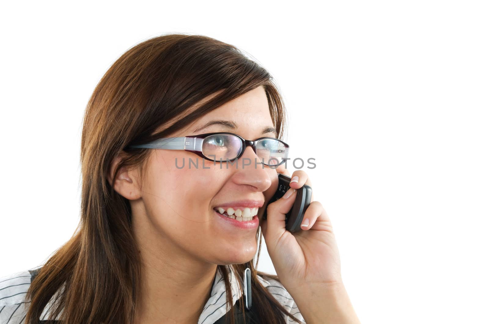
[[[166,137],[130,148],[156,148],[161,150],[185,150],[213,162],[231,162],[239,159],[247,146],[251,146],[262,163],[278,166],[286,161],[289,144],[273,137],[261,137],[248,141],[233,133],[207,133],[185,137]]]

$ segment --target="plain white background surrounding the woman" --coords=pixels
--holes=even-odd
[[[10,2],[0,276],[73,234],[87,101],[133,45],[201,34],[277,80],[362,323],[489,323],[485,1]],[[293,171],[291,169],[290,171]],[[259,269],[274,273],[266,248]]]

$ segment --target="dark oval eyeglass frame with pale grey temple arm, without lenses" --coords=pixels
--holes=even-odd
[[[238,156],[236,158],[226,160],[229,162],[241,158],[241,156],[244,153],[244,150],[248,146],[251,146],[251,148],[253,149],[253,152],[255,152],[255,154],[257,154],[256,153],[256,143],[261,141],[261,140],[270,139],[270,140],[279,141],[282,144],[284,144],[286,149],[289,149],[289,144],[287,144],[286,142],[279,140],[275,137],[260,137],[259,139],[256,139],[254,141],[248,141],[248,140],[245,140],[244,138],[242,138],[241,136],[239,136],[238,134],[228,133],[228,132],[205,133],[205,134],[200,134],[200,135],[190,135],[190,136],[184,136],[184,137],[165,137],[165,138],[157,139],[156,141],[149,142],[146,144],[129,145],[127,147],[129,147],[129,148],[155,148],[155,149],[160,149],[160,150],[183,150],[183,151],[188,151],[188,152],[192,152],[194,154],[197,154],[201,158],[208,160],[208,161],[224,162],[223,160],[215,160],[215,159],[208,158],[208,157],[204,156],[202,153],[202,143],[203,143],[204,139],[208,136],[219,135],[219,134],[233,135],[233,136],[237,137],[238,139],[240,139],[242,142],[241,152],[238,154]],[[265,165],[275,167],[275,166],[279,166],[280,164],[284,163],[285,161],[286,160],[282,160],[278,164],[271,164],[271,165],[267,164],[265,162],[263,162],[263,163]]]

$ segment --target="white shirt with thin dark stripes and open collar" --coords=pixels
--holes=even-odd
[[[229,270],[230,266],[228,265]],[[26,271],[18,272],[6,277],[0,278],[0,324],[24,324],[25,315],[27,314],[27,307],[30,302],[25,301],[25,295],[27,289],[31,283],[33,274],[39,267],[32,268]],[[241,278],[236,278],[233,271],[229,271],[229,281],[231,284],[231,291],[233,295],[232,304],[236,304],[236,301],[242,297],[242,292],[238,280],[243,283]],[[302,317],[294,300],[284,288],[282,284],[271,278],[264,278],[258,276],[258,280],[266,287],[266,289],[272,294],[275,299],[282,304],[291,314],[297,319],[301,320],[301,323],[306,323]],[[219,320],[226,311],[226,288],[223,282],[221,271],[216,271],[214,282],[212,284],[211,296],[207,300],[202,313],[199,317],[198,324],[212,324]],[[252,303],[253,303],[253,296]],[[51,319],[49,317],[49,308],[52,305],[51,298],[49,303],[44,307],[39,320]],[[60,315],[61,316],[61,315]],[[289,316],[285,316],[286,323],[292,323],[292,319]],[[60,318],[58,317],[57,320]],[[41,322],[42,323],[42,322]],[[296,323],[296,322],[294,322]]]

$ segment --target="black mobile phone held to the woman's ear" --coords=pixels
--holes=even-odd
[[[273,203],[285,195],[290,188],[290,179],[290,177],[278,173],[277,191],[275,191],[275,194],[268,203]],[[292,208],[290,208],[290,211],[285,215],[285,228],[289,232],[293,233],[301,230],[302,219],[304,218],[307,207],[311,203],[311,196],[312,188],[309,185],[304,184],[301,188],[297,189],[295,202]],[[263,219],[267,219],[267,208],[265,208]]]

